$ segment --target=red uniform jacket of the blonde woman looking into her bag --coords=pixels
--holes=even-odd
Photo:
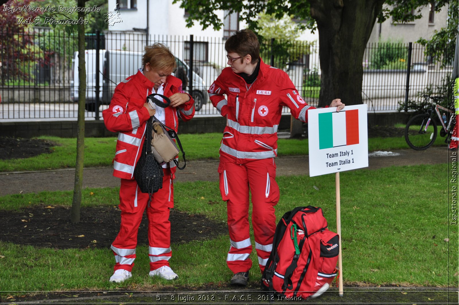
[[[169,75],[164,84],[164,95],[178,92],[182,81]],[[148,109],[143,107],[146,97],[152,93],[154,83],[140,71],[129,76],[116,87],[110,106],[102,112],[105,126],[110,131],[119,131],[113,159],[113,175],[123,179],[134,179],[134,167],[140,158],[144,142],[146,121],[150,119]],[[178,118],[190,120],[195,115],[194,100],[178,107],[165,109],[166,126],[177,131]],[[172,163],[174,164],[174,163]],[[175,165],[171,165],[173,167]],[[174,174],[175,170],[171,168]]]

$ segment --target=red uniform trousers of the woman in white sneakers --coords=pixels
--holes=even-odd
[[[137,232],[145,209],[148,218],[150,270],[169,265],[168,260],[172,256],[169,209],[174,207],[174,177],[171,177],[170,169],[163,169],[163,172],[162,188],[152,195],[149,206],[147,206],[148,193],[142,193],[135,180],[121,179],[119,190],[121,225],[111,247],[116,261],[114,270],[132,271]]]

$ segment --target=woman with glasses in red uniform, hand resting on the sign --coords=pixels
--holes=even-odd
[[[284,71],[265,64],[257,36],[248,29],[235,32],[225,43],[228,68],[210,86],[210,100],[227,118],[220,147],[220,192],[227,202],[230,249],[226,258],[234,273],[231,284],[245,286],[249,279],[252,242],[249,235],[249,190],[258,265],[263,272],[271,253],[279,201],[275,181],[277,128],[282,107],[299,120],[308,119],[308,106]],[[226,98],[225,96],[226,95]],[[340,99],[331,102],[337,111]]]

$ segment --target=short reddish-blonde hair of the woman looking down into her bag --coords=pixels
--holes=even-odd
[[[142,66],[145,68],[147,63],[155,71],[166,69],[174,71],[177,67],[174,54],[172,54],[167,46],[160,43],[145,46],[145,53],[142,56]]]

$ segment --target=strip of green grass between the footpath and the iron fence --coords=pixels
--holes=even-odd
[[[22,170],[45,170],[74,168],[76,159],[76,139],[42,136],[57,143],[52,153],[41,154],[32,158],[0,160],[0,172]],[[221,133],[183,134],[180,141],[184,147],[187,160],[218,159]],[[437,136],[434,146],[444,146],[444,138]],[[112,166],[115,155],[116,138],[85,138],[84,166]],[[307,139],[279,139],[279,156],[301,156],[308,154]],[[401,137],[369,138],[368,150],[387,151],[395,149],[411,149]],[[179,158],[181,154],[179,154]]]

